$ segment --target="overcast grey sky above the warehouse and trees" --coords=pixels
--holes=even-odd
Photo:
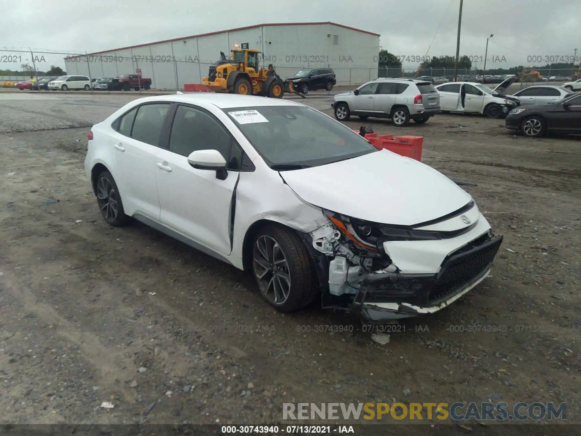
[[[460,0],[292,0],[256,7],[233,0],[16,1],[1,8],[0,61],[12,56],[13,62],[0,62],[0,69],[20,69],[30,62],[30,53],[16,48],[94,52],[252,24],[307,21],[379,33],[383,49],[399,56],[424,56],[430,45],[431,56],[454,56],[459,5]],[[544,65],[548,56],[572,58],[575,48],[581,55],[580,17],[581,0],[467,0],[460,53],[483,58],[486,37],[494,34],[487,68]],[[41,59],[42,53],[37,56]],[[530,56],[541,62],[531,62]],[[404,60],[404,66],[417,66],[412,60]],[[63,56],[44,54],[37,68],[51,64],[64,67]]]

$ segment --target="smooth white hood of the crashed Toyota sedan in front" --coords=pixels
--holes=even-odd
[[[382,224],[425,223],[472,198],[435,169],[387,150],[280,174],[312,205]]]

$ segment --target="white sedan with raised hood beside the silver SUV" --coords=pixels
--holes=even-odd
[[[442,112],[480,113],[491,118],[506,116],[518,103],[504,96],[507,88],[517,80],[507,78],[492,89],[482,83],[454,82],[437,85]]]

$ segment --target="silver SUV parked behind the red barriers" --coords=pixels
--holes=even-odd
[[[335,118],[347,121],[351,115],[390,118],[397,127],[411,120],[425,123],[440,112],[440,95],[433,84],[412,78],[378,78],[354,91],[333,97]]]

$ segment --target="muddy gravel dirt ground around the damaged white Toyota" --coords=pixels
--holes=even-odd
[[[479,116],[347,123],[423,136],[422,162],[477,184],[504,235],[474,291],[379,345],[341,313],[276,312],[248,274],[142,224],[108,226],[83,171],[88,128],[10,130],[12,116],[60,105],[85,125],[126,102],[99,101],[0,106],[0,423],[272,424],[284,402],[456,401],[566,402],[566,423],[581,423],[578,139],[515,137]],[[398,423],[383,434],[500,427]]]

